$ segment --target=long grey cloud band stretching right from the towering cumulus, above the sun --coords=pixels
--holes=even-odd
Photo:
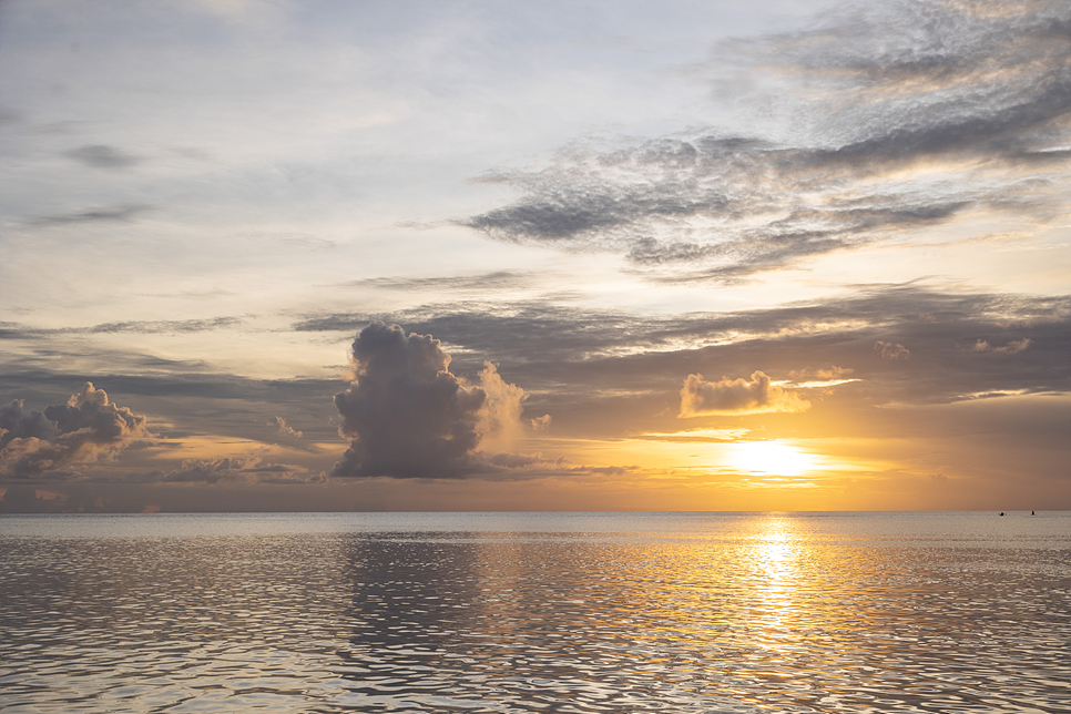
[[[919,285],[859,288],[837,299],[734,313],[645,317],[537,303],[459,303],[370,316],[309,316],[298,330],[351,332],[374,317],[404,322],[457,346],[453,369],[472,375],[475,355],[501,360],[526,386],[528,408],[568,428],[567,412],[600,412],[647,404],[680,405],[690,374],[741,377],[762,370],[774,380],[837,365],[860,380],[853,394],[880,404],[947,402],[966,395],[1071,391],[1071,299],[945,293]],[[980,350],[1022,344],[1013,353]],[[909,359],[883,359],[877,343]],[[805,395],[806,398],[806,395]],[[608,411],[609,410],[609,411]],[[594,421],[585,424],[585,428]],[[621,425],[614,425],[621,426]]]

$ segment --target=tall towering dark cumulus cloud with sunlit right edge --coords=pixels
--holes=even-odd
[[[430,335],[373,323],[354,340],[353,361],[356,379],[335,395],[339,431],[353,441],[333,476],[463,476],[491,466],[481,445],[506,448],[520,435],[523,389],[490,363],[479,385],[467,384]]]

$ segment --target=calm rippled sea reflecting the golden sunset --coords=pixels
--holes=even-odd
[[[3,712],[1069,712],[1071,513],[0,519]]]

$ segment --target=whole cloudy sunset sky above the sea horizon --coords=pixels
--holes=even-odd
[[[1071,4],[0,4],[0,511],[1071,510]]]

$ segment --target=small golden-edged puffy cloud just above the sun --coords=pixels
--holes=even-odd
[[[751,379],[706,381],[703,375],[688,375],[681,388],[681,417],[714,414],[764,414],[769,411],[805,411],[810,402],[795,392],[771,384],[762,371]]]

